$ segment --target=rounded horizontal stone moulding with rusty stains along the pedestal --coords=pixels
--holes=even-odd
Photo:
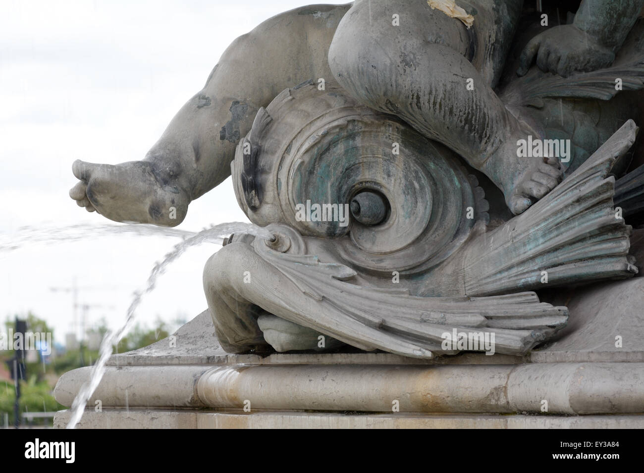
[[[64,375],[71,405],[90,369]],[[91,403],[115,407],[598,414],[644,412],[644,364],[478,366],[223,365],[109,367]],[[90,403],[90,405],[91,405]]]

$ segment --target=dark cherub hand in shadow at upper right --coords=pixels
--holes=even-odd
[[[531,39],[521,53],[518,75],[524,75],[536,55],[536,65],[544,72],[568,77],[574,72],[594,71],[615,59],[612,48],[572,24],[554,26]]]

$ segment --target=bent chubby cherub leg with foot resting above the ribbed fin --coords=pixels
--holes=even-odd
[[[424,0],[357,0],[336,30],[329,64],[357,100],[403,118],[487,174],[518,214],[557,185],[559,165],[517,157],[516,142],[536,132],[497,97],[480,72],[486,64],[477,69],[467,59],[476,54],[471,34]]]

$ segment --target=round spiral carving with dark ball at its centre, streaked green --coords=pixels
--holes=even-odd
[[[488,210],[449,149],[336,84],[286,89],[260,109],[231,169],[253,223],[336,238],[344,259],[372,272],[415,273],[444,261]],[[348,223],[328,218],[332,207],[302,219],[307,202],[348,209]]]

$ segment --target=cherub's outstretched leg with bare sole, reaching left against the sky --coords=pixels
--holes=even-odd
[[[71,198],[115,221],[181,223],[192,200],[230,175],[235,147],[259,107],[283,89],[331,77],[328,45],[349,6],[297,8],[236,39],[144,160],[75,162],[80,182]]]

